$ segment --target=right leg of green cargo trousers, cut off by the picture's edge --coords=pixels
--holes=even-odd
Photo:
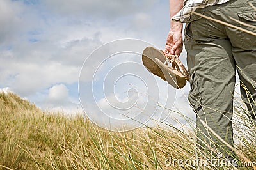
[[[243,2],[243,3],[241,3]],[[252,3],[256,6],[256,1],[234,1],[227,4],[225,8],[222,8],[223,20],[234,26],[241,27],[252,33],[256,33],[256,18],[255,10],[248,4]],[[239,20],[247,25],[243,26],[236,21],[230,19]],[[237,65],[237,72],[241,81],[241,98],[243,99],[246,107],[249,111],[249,116],[255,121],[256,113],[256,36],[250,33],[245,33],[239,29],[232,27],[225,27],[227,30],[227,36],[232,43],[232,52]]]

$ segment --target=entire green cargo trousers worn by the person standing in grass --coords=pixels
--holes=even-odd
[[[230,0],[195,12],[256,33],[255,28],[230,19],[232,17],[256,26],[256,11],[248,3],[256,6],[255,0]],[[189,102],[196,112],[198,145],[206,150],[207,145],[215,147],[223,155],[235,156],[201,121],[230,145],[234,145],[232,112],[236,70],[240,81],[252,95],[253,100],[248,99],[248,93],[241,86],[241,97],[248,107],[249,116],[255,119],[256,36],[195,14],[185,22],[184,45],[191,75]]]

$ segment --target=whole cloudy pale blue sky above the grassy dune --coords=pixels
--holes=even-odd
[[[114,124],[145,111],[147,119],[186,123],[161,103],[195,118],[189,83],[175,90],[141,65],[144,47],[164,48],[168,1],[1,0],[0,25],[0,89],[45,111],[84,109],[93,121],[111,114]],[[122,50],[134,52],[115,54]],[[186,51],[180,59],[186,65]]]

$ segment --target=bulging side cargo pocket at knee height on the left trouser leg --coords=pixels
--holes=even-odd
[[[191,107],[194,108],[196,112],[198,112],[201,109],[202,105],[201,105],[201,95],[198,90],[198,81],[196,78],[196,72],[193,72],[190,75],[189,82],[190,82],[190,88],[191,88],[188,95],[189,104],[191,105]]]

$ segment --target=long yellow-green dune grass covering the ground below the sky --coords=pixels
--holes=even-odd
[[[202,157],[192,130],[157,123],[154,128],[109,132],[77,115],[45,113],[13,93],[0,93],[0,169],[220,169],[166,166],[170,157]],[[248,126],[244,129],[251,137],[244,131],[237,135],[237,150],[255,162],[255,127]]]

